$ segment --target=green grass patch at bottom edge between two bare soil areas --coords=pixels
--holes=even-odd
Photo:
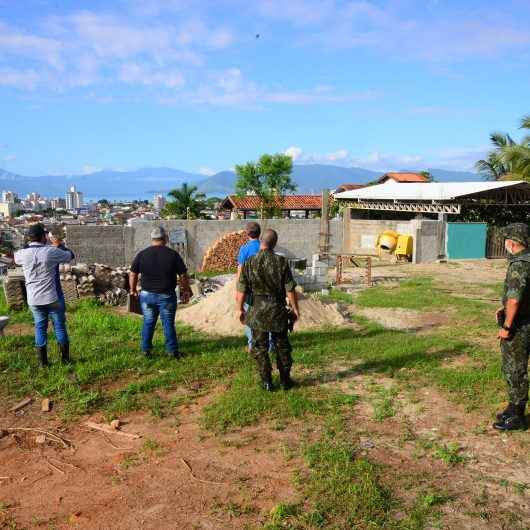
[[[359,528],[419,530],[448,498],[429,492],[404,507],[385,486],[384,467],[357,454],[354,434],[340,415],[326,422],[322,437],[304,449],[308,474],[300,479],[304,504],[279,504],[266,530]],[[398,509],[406,511],[397,517]]]

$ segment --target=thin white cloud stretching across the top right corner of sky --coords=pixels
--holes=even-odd
[[[465,12],[437,4],[427,7],[419,0],[260,0],[256,9],[262,16],[286,20],[295,31],[303,30],[295,33],[294,42],[368,48],[401,60],[490,58],[530,45],[524,17],[518,20],[507,10],[488,3]]]

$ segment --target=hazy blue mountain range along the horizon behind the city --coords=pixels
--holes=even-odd
[[[483,178],[468,171],[428,169],[437,182],[477,181]],[[334,189],[340,184],[363,184],[383,174],[358,167],[340,167],[322,164],[295,165],[293,180],[298,193],[320,193],[324,188]],[[0,169],[0,190],[11,190],[24,196],[37,192],[45,197],[64,197],[70,186],[76,186],[86,199],[109,200],[150,199],[165,194],[184,182],[193,184],[208,196],[224,197],[234,193],[235,173],[221,171],[205,177],[178,169],[154,167],[135,171],[97,171],[86,175],[44,175],[27,177]]]

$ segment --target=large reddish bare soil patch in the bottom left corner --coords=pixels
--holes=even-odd
[[[295,496],[291,476],[300,462],[286,462],[282,448],[297,433],[258,426],[210,435],[199,426],[205,402],[161,421],[144,413],[128,416],[123,429],[141,433],[139,440],[90,431],[83,422],[62,433],[73,451],[50,441],[38,445],[34,433],[4,436],[0,475],[7,478],[0,480],[0,500],[8,508],[0,511],[0,526],[9,520],[57,529],[259,525],[273,506]],[[24,425],[60,428],[56,419],[23,419]],[[20,417],[10,420],[22,423]]]

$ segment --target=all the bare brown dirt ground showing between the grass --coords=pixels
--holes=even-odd
[[[471,279],[476,286],[487,287],[502,280],[504,267],[504,262],[491,261],[382,266],[374,268],[374,276],[377,283],[422,273],[448,287]],[[432,317],[438,325],[446,323],[447,316]],[[420,329],[410,312],[392,311],[383,320],[388,327]],[[11,332],[30,334],[31,329],[17,327]],[[352,373],[351,366],[330,370]],[[418,489],[435,485],[455,499],[441,507],[443,528],[530,528],[526,433],[492,434],[491,418],[469,414],[427,386],[395,389],[395,415],[378,421],[374,384],[390,388],[392,380],[331,374],[330,382],[322,384],[340,385],[360,397],[348,414],[350,428],[361,454],[388,466],[386,480],[398,496],[407,499]],[[137,440],[85,426],[89,419],[103,422],[99,416],[63,424],[59,409],[43,413],[38,400],[17,413],[8,411],[13,402],[3,401],[0,528],[260,527],[279,502],[300,501],[292,479],[303,467],[297,449],[308,436],[307,424],[291,422],[287,429],[275,430],[263,422],[227,435],[211,434],[200,426],[200,417],[222,390],[199,395],[171,418],[155,420],[147,413],[122,418],[124,431],[141,435]],[[19,427],[59,432],[72,447],[50,437],[38,444],[37,432],[6,432]],[[447,444],[458,444],[465,465],[448,465],[436,457],[436,448]]]

